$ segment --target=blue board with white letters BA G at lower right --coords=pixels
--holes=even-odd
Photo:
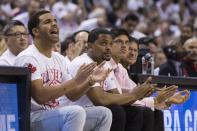
[[[197,131],[197,91],[183,105],[164,110],[165,131]]]

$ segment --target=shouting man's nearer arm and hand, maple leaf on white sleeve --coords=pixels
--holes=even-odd
[[[82,65],[73,79],[67,80],[60,85],[48,86],[43,83],[39,63],[34,57],[20,57],[16,60],[15,65],[25,66],[30,69],[32,75],[32,97],[39,104],[54,100],[65,94],[71,100],[76,100],[76,98],[84,95],[90,88],[90,86],[87,86],[89,83],[88,77],[96,67],[96,63]]]

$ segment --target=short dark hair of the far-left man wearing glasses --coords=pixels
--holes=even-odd
[[[3,29],[3,35],[8,35],[13,27],[15,26],[23,26],[25,28],[25,25],[19,21],[19,20],[11,20],[6,24],[6,26]]]

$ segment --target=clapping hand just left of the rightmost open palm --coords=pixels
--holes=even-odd
[[[175,85],[169,86],[166,88],[156,88],[156,91],[158,92],[158,95],[155,97],[155,104],[161,104],[163,103],[165,100],[167,100],[168,98],[170,98],[171,96],[174,95],[174,93],[176,92],[176,89],[178,87]],[[157,105],[155,105],[157,106]]]

